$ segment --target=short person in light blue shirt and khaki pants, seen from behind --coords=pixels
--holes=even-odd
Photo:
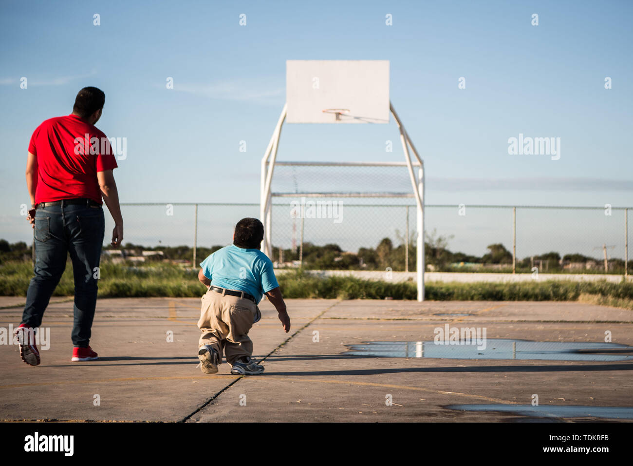
[[[252,358],[253,342],[248,331],[260,320],[257,304],[266,294],[277,309],[285,332],[290,318],[273,271],[273,264],[260,251],[264,227],[258,219],[244,218],[235,226],[233,244],[217,250],[200,264],[198,280],[208,291],[202,297],[198,328],[198,358],[204,373],[218,372],[222,352],[235,375],[256,375],[264,366]]]

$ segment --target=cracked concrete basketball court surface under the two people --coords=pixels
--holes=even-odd
[[[18,325],[19,301],[0,297],[0,327]],[[85,363],[70,361],[72,302],[57,301],[42,323],[51,345],[40,366],[25,365],[16,346],[0,346],[0,420],[506,422],[525,418],[443,406],[529,405],[532,394],[541,406],[633,406],[633,361],[341,355],[345,344],[368,340],[432,340],[445,323],[486,327],[488,339],[603,342],[610,330],[613,342],[633,346],[633,311],[615,307],[289,299],[292,328],[284,333],[264,300],[250,335],[266,372],[240,378],[226,363],[216,375],[196,367],[199,299],[99,299],[91,340],[99,360]],[[434,315],[441,313],[473,315]]]

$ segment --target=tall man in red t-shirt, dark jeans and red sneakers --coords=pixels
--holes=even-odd
[[[22,324],[16,329],[22,360],[40,363],[34,329],[42,323],[70,254],[75,278],[72,361],[97,359],[89,346],[97,302],[99,259],[104,236],[103,202],[115,221],[112,245],[123,240],[123,218],[112,174],[116,168],[110,141],[94,124],[106,95],[97,87],[77,94],[73,113],[44,121],[28,145],[27,188],[35,229],[35,268]],[[103,198],[103,200],[102,200]]]

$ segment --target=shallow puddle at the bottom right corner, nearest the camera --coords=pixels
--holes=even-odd
[[[496,411],[529,417],[633,419],[633,408],[621,406],[555,406],[555,405],[449,405],[449,410]]]

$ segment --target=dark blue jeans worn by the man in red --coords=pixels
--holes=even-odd
[[[97,304],[97,270],[104,236],[101,207],[53,205],[35,211],[35,276],[28,285],[22,323],[40,327],[70,253],[75,276],[73,344],[87,347]]]

